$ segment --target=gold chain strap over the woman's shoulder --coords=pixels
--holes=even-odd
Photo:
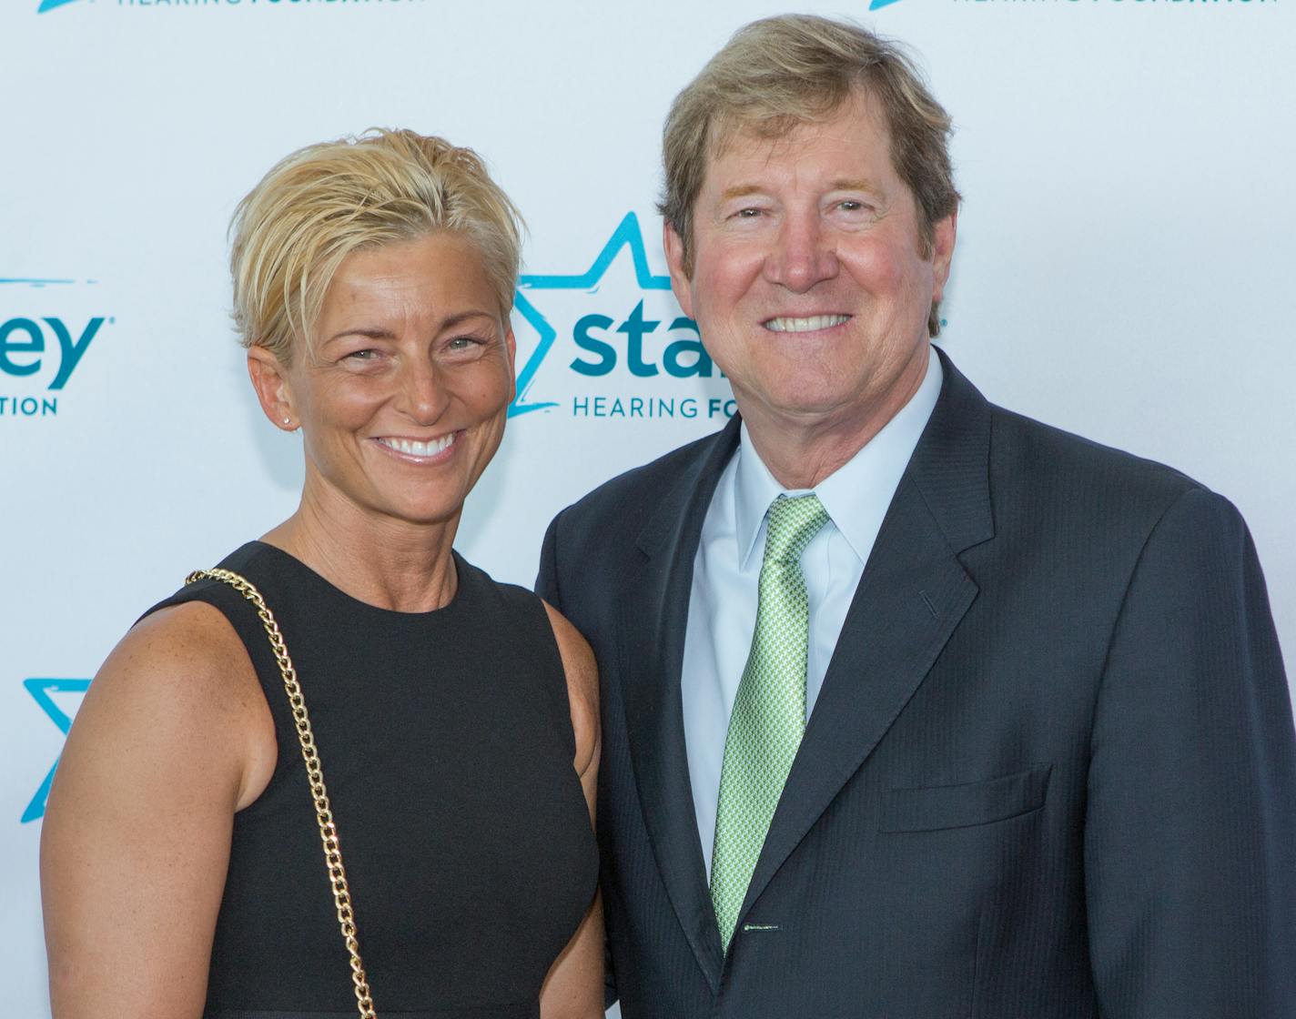
[[[275,653],[279,671],[284,676],[284,690],[288,693],[288,704],[293,711],[293,724],[297,726],[297,738],[302,745],[302,759],[306,761],[306,776],[311,783],[311,799],[315,800],[315,818],[320,825],[320,842],[324,844],[324,865],[328,868],[329,884],[333,887],[333,904],[337,906],[337,922],[342,928],[342,939],[346,941],[346,952],[351,957],[351,983],[355,984],[355,1005],[359,1009],[360,1019],[377,1019],[373,1011],[373,998],[369,997],[369,981],[364,975],[364,963],[360,961],[360,943],[355,937],[355,914],[351,912],[351,888],[346,883],[346,868],[342,866],[342,849],[337,844],[337,825],[333,822],[333,811],[328,801],[328,790],[324,789],[324,767],[320,764],[319,750],[315,747],[315,733],[311,732],[311,719],[306,713],[306,699],[302,697],[302,688],[297,682],[297,669],[293,668],[293,659],[288,656],[288,645],[284,644],[284,634],[279,631],[275,614],[270,611],[266,599],[255,585],[246,577],[232,570],[194,570],[184,579],[185,584],[197,580],[219,580],[228,584],[257,609],[266,636],[270,637],[270,647]]]

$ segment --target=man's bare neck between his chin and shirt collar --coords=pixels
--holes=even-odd
[[[855,413],[789,414],[735,392],[752,445],[775,480],[789,491],[814,488],[848,464],[914,399],[927,377],[929,350]]]

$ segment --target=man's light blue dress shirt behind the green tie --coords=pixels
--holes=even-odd
[[[932,351],[927,374],[910,401],[863,449],[813,489],[783,488],[757,454],[746,425],[741,427],[739,448],[721,474],[702,522],[680,675],[688,778],[708,880],[724,737],[756,629],[766,510],[780,493],[813,491],[829,517],[801,554],[810,597],[809,716],[883,517],[940,394],[941,361]]]

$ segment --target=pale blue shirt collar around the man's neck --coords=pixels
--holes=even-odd
[[[734,484],[734,522],[740,566],[745,568],[756,550],[770,504],[779,495],[800,496],[807,492],[819,496],[851,550],[861,562],[866,561],[905,467],[936,409],[942,374],[941,359],[934,350],[929,350],[927,373],[908,403],[858,453],[813,489],[789,491],[779,484],[756,452],[744,421]]]

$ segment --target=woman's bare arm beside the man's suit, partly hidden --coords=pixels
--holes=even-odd
[[[575,627],[546,605],[562,655],[575,732],[575,770],[595,822],[599,782],[599,673],[594,653]],[[601,1019],[603,1016],[603,902],[596,895],[575,935],[557,957],[540,991],[540,1019]]]

